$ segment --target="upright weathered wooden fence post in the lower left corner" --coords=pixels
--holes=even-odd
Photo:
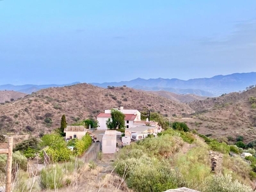
[[[7,174],[6,174],[6,192],[11,192],[12,186],[12,145],[13,138],[8,137],[8,158],[7,158]]]

